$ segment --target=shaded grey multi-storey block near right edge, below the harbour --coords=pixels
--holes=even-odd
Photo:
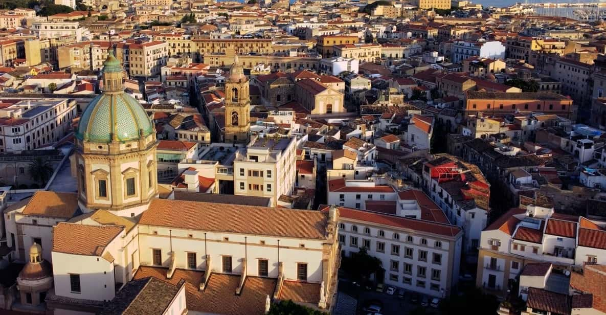
[[[551,76],[562,83],[562,94],[570,96],[579,105],[579,110],[585,109],[591,103],[591,74],[593,66],[584,62],[561,58],[556,61],[555,71]]]

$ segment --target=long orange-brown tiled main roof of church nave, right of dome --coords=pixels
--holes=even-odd
[[[246,216],[246,220],[234,220]],[[154,199],[139,224],[205,231],[325,239],[327,215],[247,205]]]

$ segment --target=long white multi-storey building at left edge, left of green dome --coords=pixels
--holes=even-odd
[[[72,130],[76,101],[19,101],[0,110],[0,152],[34,150],[59,141]]]

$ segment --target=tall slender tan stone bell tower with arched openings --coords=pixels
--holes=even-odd
[[[225,142],[248,143],[250,131],[250,91],[238,56],[225,81]]]

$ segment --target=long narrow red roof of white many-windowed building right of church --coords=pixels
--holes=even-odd
[[[327,212],[328,208],[330,207],[325,206],[321,211]],[[345,219],[372,222],[395,228],[424,231],[427,233],[440,234],[448,237],[456,236],[457,234],[462,233],[461,228],[456,225],[428,222],[425,220],[411,219],[410,217],[391,216],[389,214],[374,213],[353,208],[339,207],[339,216]]]

